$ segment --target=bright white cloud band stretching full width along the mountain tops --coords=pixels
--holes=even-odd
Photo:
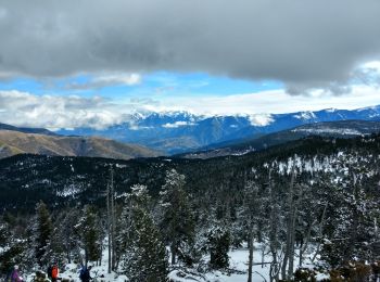
[[[45,128],[91,127],[97,129],[129,121],[131,114],[147,112],[188,111],[193,114],[250,115],[254,125],[270,123],[270,114],[318,111],[322,108],[358,108],[380,104],[380,89],[370,86],[353,86],[344,99],[316,90],[309,95],[290,95],[284,90],[259,93],[232,94],[227,97],[178,97],[163,99],[131,99],[125,102],[100,97],[34,95],[20,91],[0,91],[0,120],[4,124]],[[166,124],[164,127],[180,127],[185,121]],[[131,128],[134,129],[134,128]],[[138,129],[138,128],[135,128]]]

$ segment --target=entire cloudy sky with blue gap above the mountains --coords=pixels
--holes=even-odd
[[[4,0],[0,123],[380,104],[378,0]]]

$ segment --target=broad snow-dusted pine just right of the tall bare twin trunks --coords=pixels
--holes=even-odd
[[[167,281],[166,249],[149,213],[149,202],[147,187],[134,185],[123,211],[122,267],[131,282]]]

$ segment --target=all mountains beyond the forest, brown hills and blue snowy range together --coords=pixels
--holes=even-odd
[[[379,131],[380,106],[265,116],[136,114],[103,130],[52,132],[0,124],[0,158],[20,153],[121,159],[165,154],[208,158],[261,151],[308,136],[345,138]]]

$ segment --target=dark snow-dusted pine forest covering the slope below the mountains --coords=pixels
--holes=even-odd
[[[301,277],[316,277],[314,271],[331,281],[375,278],[379,153],[380,136],[370,136],[312,137],[205,161],[5,158],[0,161],[1,268],[13,261],[43,267],[52,257],[61,264],[99,261],[103,239],[111,238],[111,268],[131,281],[155,275],[164,281],[165,273],[179,270],[233,272],[227,253],[246,244],[248,277],[259,244],[268,281],[312,281]],[[52,225],[47,232],[41,220]],[[143,270],[152,261],[154,267]]]

